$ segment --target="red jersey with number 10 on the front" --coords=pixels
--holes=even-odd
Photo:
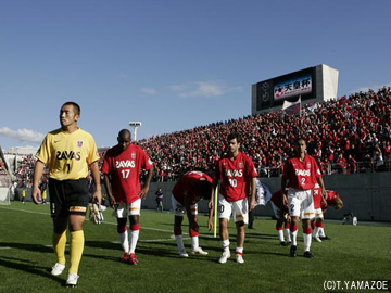
[[[256,177],[253,162],[241,152],[235,158],[226,154],[216,163],[214,179],[222,180],[219,193],[227,202],[244,199],[250,193],[252,178]]]

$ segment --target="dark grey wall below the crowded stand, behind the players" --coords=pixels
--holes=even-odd
[[[272,192],[280,187],[280,178],[261,178]],[[342,219],[344,214],[353,213],[358,220],[375,220],[391,222],[391,173],[371,173],[355,175],[331,175],[325,176],[326,188],[340,193],[344,203],[343,208],[335,211],[330,207],[326,218]],[[164,209],[172,209],[171,191],[175,182],[152,182],[146,200],[142,201],[142,208],[154,209],[156,207],[155,195],[161,187],[164,193]],[[22,194],[22,190],[17,189]],[[26,200],[30,201],[31,190],[27,189]],[[13,199],[11,199],[13,200]],[[15,198],[14,200],[20,200]],[[201,201],[199,204],[201,213],[207,212],[207,203]],[[266,206],[255,208],[256,216],[273,216],[273,209],[268,203]]]

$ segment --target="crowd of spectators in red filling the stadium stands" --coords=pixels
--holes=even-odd
[[[253,160],[260,176],[281,174],[297,137],[307,141],[308,153],[317,157],[325,174],[390,170],[390,113],[391,89],[384,87],[307,104],[300,116],[282,111],[257,114],[153,136],[137,144],[155,163],[156,181],[177,180],[192,169],[212,174],[232,131],[242,135],[241,151]],[[30,155],[20,164],[18,181],[31,180],[34,162]]]

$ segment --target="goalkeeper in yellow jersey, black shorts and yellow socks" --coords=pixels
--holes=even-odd
[[[77,285],[78,267],[83,255],[85,237],[83,224],[89,202],[88,166],[97,187],[92,200],[101,201],[98,150],[93,137],[77,126],[80,107],[66,102],[60,111],[61,128],[49,132],[43,139],[36,157],[33,182],[33,200],[41,204],[39,180],[45,165],[49,165],[50,211],[53,219],[53,247],[56,264],[51,275],[59,276],[65,268],[66,228],[71,231],[71,267],[66,285]]]

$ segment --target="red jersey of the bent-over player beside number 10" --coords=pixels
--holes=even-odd
[[[201,178],[205,178],[212,183],[212,178],[202,171],[188,171],[179,179],[173,188],[173,196],[180,204],[185,204],[185,198],[189,200],[190,205],[197,204],[200,200],[195,194],[195,186]]]

